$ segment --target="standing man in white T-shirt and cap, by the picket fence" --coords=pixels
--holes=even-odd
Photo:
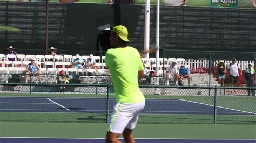
[[[242,74],[242,70],[240,65],[237,63],[237,59],[233,58],[232,63],[227,66],[228,72],[230,73],[230,83],[231,87],[237,87],[238,86],[238,77],[239,73]],[[236,92],[234,90],[234,92]]]

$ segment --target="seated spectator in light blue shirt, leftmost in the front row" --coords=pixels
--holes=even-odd
[[[26,66],[26,79],[25,82],[28,83],[28,77],[38,75],[38,81],[41,82],[41,72],[40,67],[35,63],[35,58],[31,59],[31,63]]]

